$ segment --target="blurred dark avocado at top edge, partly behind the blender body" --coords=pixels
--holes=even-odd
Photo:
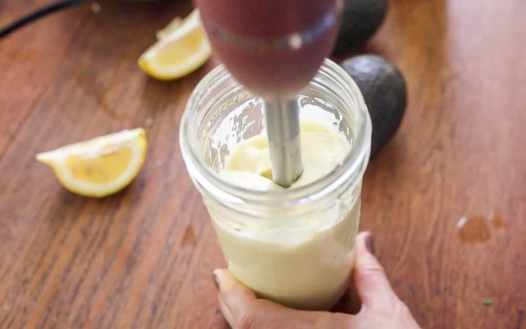
[[[345,54],[363,45],[382,25],[387,0],[343,0],[335,55]]]

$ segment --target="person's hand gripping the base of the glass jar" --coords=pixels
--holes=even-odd
[[[419,329],[407,306],[392,291],[383,268],[372,254],[372,236],[356,238],[353,279],[362,302],[356,315],[292,310],[256,297],[226,269],[214,271],[219,306],[234,329],[331,328],[331,329]]]

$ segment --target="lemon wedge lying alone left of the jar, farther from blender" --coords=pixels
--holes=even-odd
[[[103,197],[126,187],[139,173],[146,157],[143,128],[96,137],[53,151],[36,159],[53,168],[69,191]]]

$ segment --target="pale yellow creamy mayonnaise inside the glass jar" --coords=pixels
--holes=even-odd
[[[350,151],[339,133],[318,123],[302,121],[301,156],[304,172],[290,188],[329,174]],[[226,159],[220,175],[250,190],[283,187],[272,182],[268,139],[254,136],[240,142]],[[359,187],[358,187],[359,188]],[[354,262],[360,215],[359,194],[335,195],[333,204],[289,223],[287,212],[269,215],[271,225],[226,224],[231,218],[209,205],[228,268],[260,297],[306,310],[330,308],[345,292]],[[258,218],[247,218],[247,221]],[[269,223],[269,222],[267,222]],[[281,225],[281,223],[283,225]]]

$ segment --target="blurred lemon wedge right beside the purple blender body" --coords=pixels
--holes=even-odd
[[[212,49],[199,11],[195,9],[184,19],[175,19],[157,33],[159,41],[137,61],[149,75],[161,79],[185,76],[210,58]]]

